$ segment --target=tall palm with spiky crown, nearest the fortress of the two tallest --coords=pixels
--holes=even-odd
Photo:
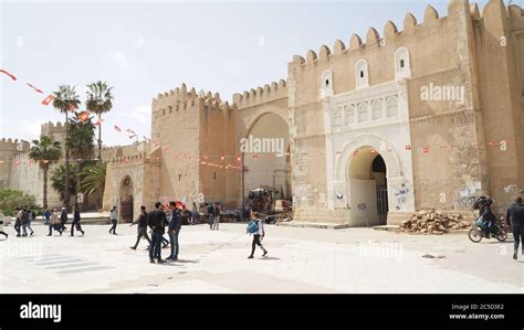
[[[102,114],[111,111],[113,108],[113,87],[107,87],[105,82],[96,82],[87,85],[87,99],[85,107],[88,111],[98,115],[98,159],[102,159]]]

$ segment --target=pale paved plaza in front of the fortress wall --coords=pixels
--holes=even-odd
[[[0,292],[524,292],[524,262],[506,243],[471,243],[465,233],[411,236],[371,228],[266,225],[264,246],[248,259],[245,224],[184,226],[180,260],[149,264],[136,227],[84,225],[85,237],[10,235],[0,241]],[[12,226],[7,227],[12,233]],[[163,249],[163,257],[169,248]]]

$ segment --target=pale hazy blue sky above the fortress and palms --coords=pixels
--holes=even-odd
[[[524,0],[513,1],[523,6]],[[479,1],[482,8],[485,1]],[[399,30],[406,13],[422,21],[427,4],[447,14],[447,1],[2,1],[0,0],[0,137],[32,139],[40,124],[63,120],[45,95],[60,84],[102,79],[116,102],[105,116],[104,143],[129,139],[114,125],[150,134],[150,104],[158,93],[186,82],[231,100],[286,77],[293,54],[347,45],[387,20]]]

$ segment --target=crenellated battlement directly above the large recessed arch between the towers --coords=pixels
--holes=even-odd
[[[284,79],[251,88],[242,94],[233,94],[233,104],[239,109],[287,97],[287,83]]]

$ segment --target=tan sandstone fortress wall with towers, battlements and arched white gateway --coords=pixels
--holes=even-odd
[[[130,193],[135,214],[199,195],[239,207],[268,185],[293,198],[298,222],[395,224],[417,209],[468,212],[480,194],[502,211],[524,189],[523,9],[450,0],[401,23],[294,55],[285,79],[231,104],[185,84],[158,94],[151,141],[104,150],[104,207]],[[285,156],[242,155],[250,136],[282,138]]]

